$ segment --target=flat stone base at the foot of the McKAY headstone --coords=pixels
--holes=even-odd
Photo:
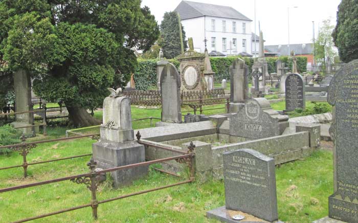
[[[244,216],[245,218],[243,220],[232,219],[232,216],[234,216],[236,214],[240,214],[240,215]],[[247,213],[244,213],[241,211],[233,211],[233,210],[226,209],[225,206],[208,211],[206,213],[206,216],[208,218],[215,218],[221,222],[227,222],[227,223],[271,223],[270,221],[266,221],[261,218],[257,218],[251,214],[247,214]],[[275,223],[284,223],[282,221],[274,221],[274,222]]]

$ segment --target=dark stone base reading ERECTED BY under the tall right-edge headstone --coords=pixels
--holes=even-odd
[[[335,193],[328,197],[329,217],[339,218],[350,223],[358,222],[358,204],[356,199],[350,202],[349,197],[342,199],[342,196]]]

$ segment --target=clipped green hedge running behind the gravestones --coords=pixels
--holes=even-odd
[[[230,80],[230,65],[236,58],[242,58],[249,66],[249,76],[251,77],[251,68],[254,64],[254,58],[249,57],[211,57],[211,68],[215,72],[215,81],[221,81],[222,79]],[[267,69],[269,74],[276,73],[276,60],[282,60],[288,68],[292,67],[292,58],[288,56],[281,57],[266,57]],[[138,90],[147,90],[148,88],[155,88],[156,86],[156,62],[158,59],[143,60],[138,59],[138,66],[135,72],[136,88]],[[173,63],[179,70],[180,62],[177,59],[170,59],[169,62]],[[307,57],[297,57],[297,69],[299,73],[307,71]]]

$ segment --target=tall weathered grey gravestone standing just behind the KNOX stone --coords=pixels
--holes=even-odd
[[[230,101],[237,103],[249,99],[249,67],[237,58],[230,66]]]

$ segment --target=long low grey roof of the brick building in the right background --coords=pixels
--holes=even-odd
[[[277,53],[280,56],[289,56],[288,45],[271,45],[265,46],[265,51],[270,53]],[[312,54],[313,44],[312,43],[301,43],[301,44],[289,44],[289,51],[295,51],[296,55]]]

